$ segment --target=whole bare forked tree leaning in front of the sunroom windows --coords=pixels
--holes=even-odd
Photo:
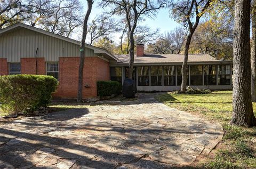
[[[185,44],[184,59],[181,70],[181,91],[186,91],[188,52],[191,38],[199,24],[200,18],[210,6],[211,2],[212,0],[172,0],[170,3],[172,17],[179,22],[183,22],[183,25],[188,28],[188,36]],[[195,18],[194,24],[193,21],[191,21],[193,18]]]

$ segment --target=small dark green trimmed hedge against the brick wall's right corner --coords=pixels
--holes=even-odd
[[[116,81],[98,81],[97,93],[100,97],[118,95],[122,91],[122,84]]]

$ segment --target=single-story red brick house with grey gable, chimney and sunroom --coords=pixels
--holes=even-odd
[[[0,75],[52,75],[59,80],[55,97],[76,98],[80,43],[17,23],[0,30]],[[92,45],[85,46],[83,97],[97,96],[97,81],[123,83],[129,55],[113,55]],[[137,45],[133,78],[139,91],[178,90],[182,54],[144,54]],[[189,55],[188,85],[212,90],[229,90],[232,61],[216,60],[208,54]]]

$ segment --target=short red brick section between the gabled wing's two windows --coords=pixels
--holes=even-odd
[[[36,75],[36,58],[21,58],[21,74]],[[37,74],[45,75],[44,58],[37,58]]]

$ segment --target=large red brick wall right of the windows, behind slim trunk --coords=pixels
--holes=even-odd
[[[79,57],[59,58],[59,87],[55,97],[76,98]],[[97,81],[109,80],[109,63],[97,57],[86,57],[84,62],[83,98],[97,96]]]

